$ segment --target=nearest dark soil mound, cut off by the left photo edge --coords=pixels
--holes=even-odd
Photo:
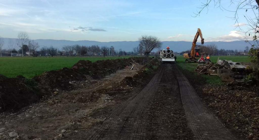
[[[7,78],[0,75],[0,112],[7,109],[19,109],[36,102],[41,95],[33,87],[34,83],[22,76]]]

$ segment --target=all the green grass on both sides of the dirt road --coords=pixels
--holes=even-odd
[[[97,60],[128,58],[126,57],[2,57],[0,58],[0,74],[7,77],[22,75],[32,78],[45,71],[59,70],[63,67],[71,68],[79,60]],[[216,62],[218,56],[212,56],[212,62]],[[232,60],[234,62],[249,62],[247,56],[220,56],[219,59]],[[186,63],[183,56],[177,56],[177,65],[182,69],[197,74],[194,70],[197,63]],[[202,75],[209,83],[221,83],[218,76]]]

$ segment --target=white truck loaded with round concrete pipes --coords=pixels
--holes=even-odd
[[[160,61],[162,63],[170,62],[175,63],[176,62],[176,56],[173,54],[173,51],[170,49],[163,49],[160,51]]]

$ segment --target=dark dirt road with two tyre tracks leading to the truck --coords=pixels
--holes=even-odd
[[[172,64],[163,64],[140,93],[112,110],[87,139],[237,139]]]

